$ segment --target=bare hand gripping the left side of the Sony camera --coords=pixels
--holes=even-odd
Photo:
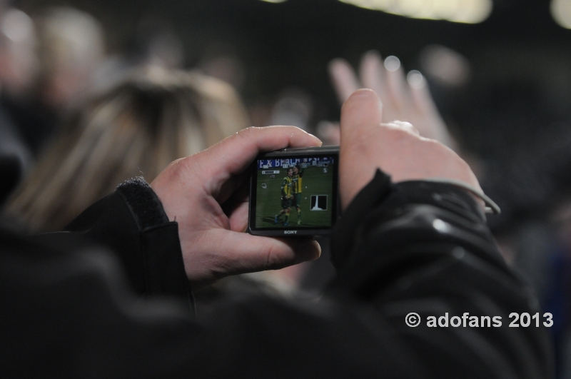
[[[262,151],[320,146],[293,126],[247,128],[171,163],[151,183],[178,223],[186,274],[199,288],[224,276],[283,268],[320,256],[310,238],[268,238],[248,226],[249,165]]]

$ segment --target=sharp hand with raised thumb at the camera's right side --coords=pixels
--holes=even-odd
[[[393,183],[450,178],[479,190],[474,173],[450,148],[423,138],[410,123],[383,123],[383,104],[375,92],[360,89],[341,108],[339,182],[341,205],[347,208],[377,168]]]

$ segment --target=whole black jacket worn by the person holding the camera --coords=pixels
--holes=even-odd
[[[378,171],[331,245],[338,278],[321,300],[246,296],[198,323],[177,225],[143,181],[124,183],[66,232],[31,237],[4,225],[0,376],[552,378],[547,318],[465,191],[395,185]],[[420,325],[405,323],[409,313]],[[502,325],[450,325],[464,313]],[[538,313],[540,326],[510,328],[510,313]],[[448,327],[427,326],[447,314]]]

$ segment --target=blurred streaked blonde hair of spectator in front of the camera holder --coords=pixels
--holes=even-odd
[[[149,183],[177,158],[248,126],[236,92],[196,72],[137,71],[66,124],[8,203],[37,231],[61,230],[118,183]]]

